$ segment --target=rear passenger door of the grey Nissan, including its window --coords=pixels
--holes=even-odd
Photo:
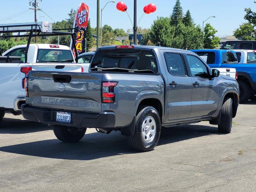
[[[188,118],[191,111],[192,80],[180,53],[164,52],[167,66],[169,120]]]

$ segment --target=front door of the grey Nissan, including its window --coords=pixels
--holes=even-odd
[[[212,115],[219,102],[219,81],[210,79],[210,69],[196,56],[186,55],[193,82],[189,118]]]

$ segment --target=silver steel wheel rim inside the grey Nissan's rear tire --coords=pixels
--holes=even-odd
[[[152,116],[147,116],[141,126],[141,136],[143,141],[149,143],[153,141],[156,136],[156,121]]]

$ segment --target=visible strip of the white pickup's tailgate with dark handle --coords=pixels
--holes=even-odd
[[[82,64],[78,63],[33,63],[32,70],[35,71],[65,71],[82,72]]]

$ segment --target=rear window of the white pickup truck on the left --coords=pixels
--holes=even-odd
[[[70,50],[39,49],[37,63],[74,63],[73,55]]]

